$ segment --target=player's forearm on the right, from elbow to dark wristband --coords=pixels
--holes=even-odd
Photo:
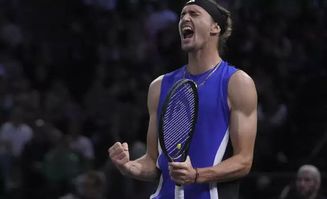
[[[225,182],[241,178],[249,173],[251,164],[252,160],[235,155],[213,167],[198,168],[198,182]]]

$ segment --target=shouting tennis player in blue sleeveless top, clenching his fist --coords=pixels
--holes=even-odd
[[[123,175],[146,181],[159,177],[150,198],[174,198],[175,183],[184,185],[187,199],[238,198],[238,179],[252,164],[257,94],[253,80],[219,56],[218,46],[231,35],[231,26],[230,13],[212,0],[185,4],[179,32],[188,64],[150,84],[147,153],[129,161],[126,143],[109,149]],[[197,84],[198,122],[186,161],[169,163],[158,144],[157,124],[169,89],[183,78]]]

